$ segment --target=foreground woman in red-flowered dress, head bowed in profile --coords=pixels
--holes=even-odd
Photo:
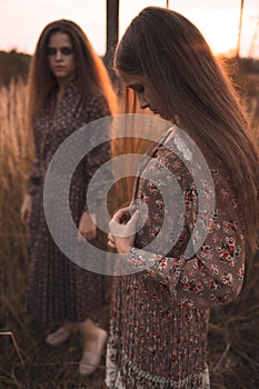
[[[114,68],[170,128],[147,152],[133,207],[110,222],[109,246],[135,271],[113,281],[107,386],[209,388],[210,308],[237,298],[258,245],[258,150],[228,76],[183,16],[143,9]]]

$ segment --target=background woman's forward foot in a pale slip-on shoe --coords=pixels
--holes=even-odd
[[[104,350],[107,338],[107,331],[97,327],[94,337],[88,340],[84,346],[82,359],[79,365],[80,375],[89,376],[97,370]]]

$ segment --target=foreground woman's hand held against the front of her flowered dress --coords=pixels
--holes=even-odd
[[[139,210],[136,210],[132,217],[130,210],[132,207],[120,209],[109,223],[108,246],[117,249],[119,253],[128,253],[135,243]]]

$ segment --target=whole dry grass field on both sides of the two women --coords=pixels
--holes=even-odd
[[[259,77],[241,76],[249,114],[259,133]],[[27,231],[20,222],[23,184],[33,156],[26,123],[26,86],[0,90],[0,389],[102,389],[104,357],[90,378],[78,373],[81,345],[78,335],[58,348],[44,343],[46,328],[23,311],[28,269]],[[257,138],[258,139],[258,138]],[[109,326],[107,308],[96,318]],[[212,389],[259,388],[259,255],[247,258],[242,292],[237,301],[211,312],[209,366]],[[132,388],[135,389],[135,388]]]

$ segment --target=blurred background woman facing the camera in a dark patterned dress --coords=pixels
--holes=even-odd
[[[74,265],[56,246],[43,211],[44,176],[54,152],[72,132],[113,114],[116,109],[107,69],[82,29],[70,20],[49,23],[39,37],[29,73],[29,123],[36,159],[21,207],[21,220],[30,227],[26,308],[36,320],[61,323],[46,339],[51,346],[66,341],[76,330],[81,332],[82,375],[96,370],[107,339],[107,331],[92,320],[104,305],[104,280]],[[88,211],[87,188],[109,158],[110,147],[103,143],[82,159],[72,176],[69,206],[78,239],[99,240],[94,218]],[[97,209],[101,186],[94,193]]]

